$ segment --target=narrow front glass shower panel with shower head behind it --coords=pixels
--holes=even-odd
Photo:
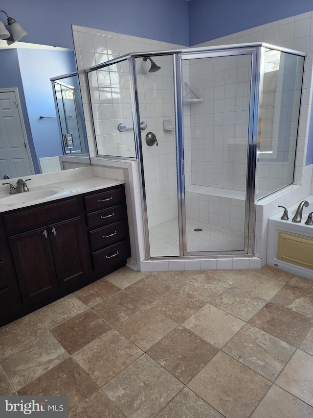
[[[180,255],[173,56],[135,58],[150,257]],[[151,62],[152,61],[152,62]],[[156,140],[154,138],[155,135]]]

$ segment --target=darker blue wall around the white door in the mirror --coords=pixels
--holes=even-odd
[[[0,51],[0,74],[1,89],[11,89],[12,87],[18,88],[27,141],[34,164],[35,173],[40,173],[41,171],[36,157],[36,151],[34,148],[33,138],[31,135],[31,129],[28,120],[28,113],[24,98],[24,90],[19,68],[19,58],[17,49],[3,49]]]

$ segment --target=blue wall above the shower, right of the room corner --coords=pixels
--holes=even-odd
[[[312,0],[191,0],[189,45],[311,10]]]

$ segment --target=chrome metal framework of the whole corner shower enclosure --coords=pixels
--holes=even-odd
[[[262,84],[264,74],[264,53],[265,49],[274,49],[282,52],[291,53],[294,55],[306,56],[305,53],[299,52],[293,49],[287,49],[284,47],[278,47],[276,45],[267,44],[264,42],[255,42],[251,44],[233,44],[223,45],[218,47],[201,47],[201,48],[188,48],[188,49],[176,49],[176,50],[161,50],[161,51],[149,51],[149,52],[130,52],[125,55],[121,55],[105,63],[97,64],[93,67],[84,70],[86,74],[91,71],[108,67],[109,65],[128,60],[129,72],[130,72],[130,84],[131,84],[131,102],[133,112],[134,123],[134,140],[136,148],[136,158],[129,157],[131,160],[137,159],[140,165],[140,181],[142,190],[143,201],[143,220],[145,225],[145,240],[146,240],[146,259],[150,260],[167,260],[167,259],[179,259],[188,256],[188,258],[219,258],[219,257],[234,257],[236,255],[253,255],[254,248],[254,221],[255,221],[255,178],[257,170],[257,146],[260,136],[260,117],[261,117],[261,105],[262,105]],[[245,219],[245,250],[243,251],[220,251],[220,252],[187,252],[185,229],[186,225],[183,224],[183,209],[184,209],[184,185],[182,177],[182,161],[183,161],[183,125],[182,125],[182,94],[181,94],[181,68],[180,60],[190,58],[196,58],[196,55],[202,57],[214,57],[214,56],[227,56],[227,55],[252,55],[252,69],[251,69],[251,90],[250,90],[250,111],[249,111],[249,123],[248,123],[248,149],[247,149],[247,179],[246,179],[246,219]],[[149,243],[149,228],[147,217],[147,205],[146,205],[146,193],[145,193],[145,178],[143,169],[143,155],[141,144],[141,130],[140,130],[140,116],[139,116],[139,102],[138,102],[138,87],[136,77],[135,58],[143,57],[156,57],[156,56],[171,55],[173,57],[173,69],[174,69],[174,106],[175,106],[175,122],[176,122],[176,145],[177,145],[177,184],[178,184],[178,218],[179,218],[179,256],[162,256],[151,257],[150,243]],[[183,58],[182,58],[183,57]],[[68,76],[69,74],[67,74]],[[59,77],[58,77],[59,78]],[[89,87],[89,80],[87,77],[87,85]],[[89,100],[90,89],[89,89]],[[93,128],[94,129],[94,128]],[[179,139],[181,138],[181,139]],[[101,155],[103,159],[112,159],[111,155]],[[124,161],[125,157],[114,157],[116,160]],[[141,215],[140,215],[141,216]],[[137,215],[135,217],[137,219]],[[140,218],[141,219],[141,218]],[[184,229],[184,231],[183,231]]]

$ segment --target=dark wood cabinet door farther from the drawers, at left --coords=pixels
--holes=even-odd
[[[47,228],[9,238],[24,303],[32,303],[57,290],[58,284]]]

